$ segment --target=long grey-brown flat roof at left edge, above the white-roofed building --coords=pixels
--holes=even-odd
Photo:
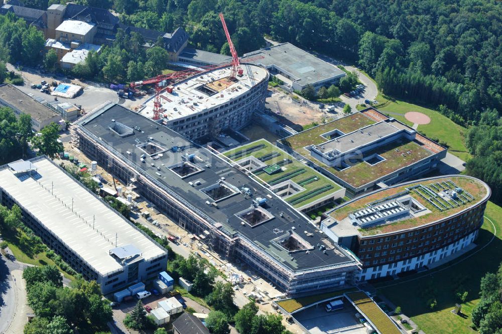
[[[23,114],[30,115],[32,119],[39,123],[59,116],[56,112],[53,112],[42,103],[35,101],[10,83],[0,85],[0,98],[21,110]]]

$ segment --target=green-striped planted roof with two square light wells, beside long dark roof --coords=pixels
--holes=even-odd
[[[295,208],[301,208],[342,189],[340,185],[264,139],[237,147],[223,155],[252,172],[259,181],[270,185],[272,191]]]

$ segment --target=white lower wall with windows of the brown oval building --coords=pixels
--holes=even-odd
[[[477,237],[477,233],[478,230],[472,232],[471,234],[465,236],[464,238],[456,241],[453,244],[450,244],[441,249],[426,254],[422,254],[420,256],[411,259],[398,261],[382,266],[364,268],[363,270],[358,272],[357,281],[360,282],[379,277],[396,275],[401,272],[418,269],[423,266],[430,266],[435,262],[448,259],[448,257],[451,257],[450,259],[445,261],[448,262],[453,259],[452,257],[453,254],[472,244],[472,242]]]

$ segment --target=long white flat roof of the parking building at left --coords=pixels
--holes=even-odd
[[[51,160],[38,157],[30,162],[37,169],[33,176],[15,175],[7,165],[3,166],[0,188],[95,271],[106,275],[122,268],[109,254],[116,248],[115,234],[117,247],[133,245],[146,260],[166,254]]]

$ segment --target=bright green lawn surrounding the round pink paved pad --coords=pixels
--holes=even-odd
[[[467,148],[464,143],[464,136],[467,131],[466,128],[429,108],[404,101],[391,100],[386,95],[380,93],[376,97],[376,100],[379,102],[376,106],[377,109],[409,126],[413,126],[413,123],[405,119],[404,115],[406,113],[420,112],[429,116],[431,118],[431,123],[420,125],[418,130],[424,132],[428,137],[437,137],[439,140],[448,143],[448,151],[460,159],[464,161],[470,159],[471,156],[467,153]]]

